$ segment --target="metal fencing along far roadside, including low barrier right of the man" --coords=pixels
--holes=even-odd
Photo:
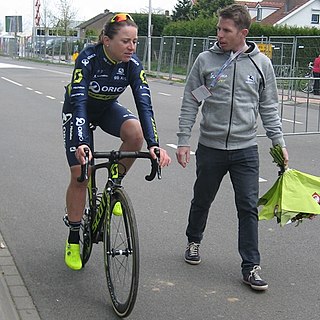
[[[306,78],[310,61],[320,53],[320,37],[255,37],[260,50],[271,58],[277,76],[280,106],[286,134],[320,133],[320,96],[304,90],[314,81]],[[150,75],[169,80],[185,81],[198,54],[215,41],[214,37],[152,37],[148,60],[149,39],[139,37],[137,55]],[[0,54],[12,57],[46,60],[53,63],[74,63],[76,54],[90,39],[14,38],[0,37]]]

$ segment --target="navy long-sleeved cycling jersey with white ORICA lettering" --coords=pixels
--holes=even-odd
[[[145,72],[134,54],[128,62],[111,60],[102,44],[89,46],[78,56],[66,102],[73,107],[76,147],[90,145],[88,116],[102,114],[130,86],[148,148],[158,146],[151,95]]]

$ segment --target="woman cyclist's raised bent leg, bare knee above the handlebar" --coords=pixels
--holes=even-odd
[[[100,118],[98,125],[101,129],[122,140],[121,151],[140,151],[143,145],[143,132],[140,121],[119,102],[113,102]],[[135,159],[123,159],[125,171],[119,167],[120,174],[125,174]]]

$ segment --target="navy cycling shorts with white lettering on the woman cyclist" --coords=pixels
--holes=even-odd
[[[88,112],[88,123],[100,127],[104,132],[115,137],[120,137],[121,125],[130,119],[138,119],[129,109],[123,107],[118,101],[112,101],[100,112],[90,114]],[[65,100],[62,108],[62,131],[66,156],[70,167],[78,165],[75,156],[77,141],[75,139],[75,121],[73,119],[73,107]],[[93,150],[92,131],[90,130],[89,147]]]

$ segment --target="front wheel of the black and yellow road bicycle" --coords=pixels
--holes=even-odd
[[[139,283],[139,239],[131,201],[123,188],[114,191],[104,227],[104,263],[113,309],[127,317]]]

